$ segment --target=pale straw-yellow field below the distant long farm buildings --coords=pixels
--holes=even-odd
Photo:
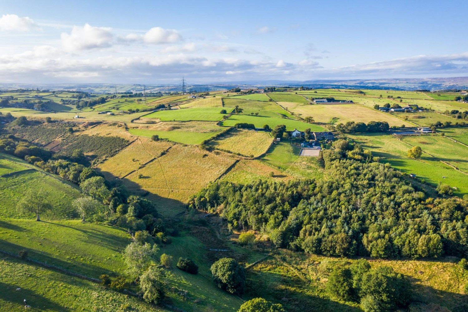
[[[390,126],[414,126],[409,122],[398,119],[388,113],[366,108],[358,104],[297,104],[278,102],[289,111],[302,118],[308,116],[314,118],[315,122],[322,123],[346,123],[348,121],[364,122],[387,121]],[[336,119],[338,119],[336,121]]]

